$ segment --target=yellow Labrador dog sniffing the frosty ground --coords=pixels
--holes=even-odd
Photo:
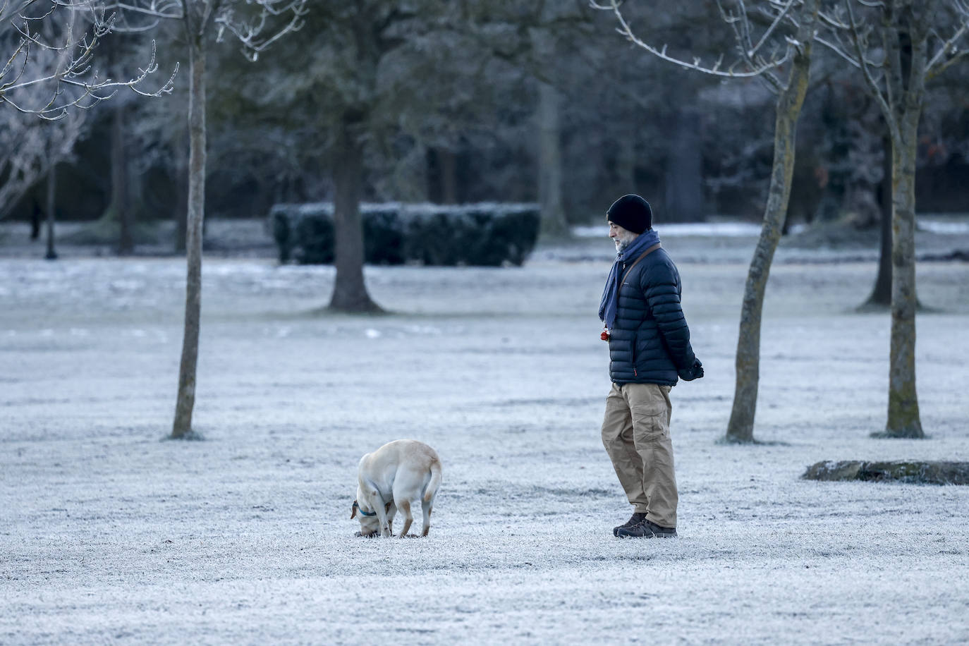
[[[380,532],[390,537],[397,509],[404,514],[407,536],[414,516],[411,507],[421,500],[423,532],[430,529],[430,510],[434,507],[437,488],[441,486],[441,458],[437,452],[416,440],[394,440],[360,458],[357,469],[357,500],[354,518],[359,513],[359,536],[371,537]]]

